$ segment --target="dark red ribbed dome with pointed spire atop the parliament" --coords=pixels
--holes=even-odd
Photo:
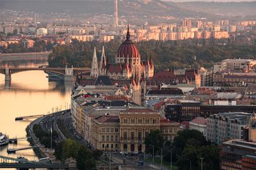
[[[126,39],[122,43],[122,45],[119,46],[117,56],[120,58],[124,56],[125,59],[127,59],[127,56],[129,56],[130,59],[132,59],[132,56],[134,57],[134,59],[139,57],[137,47],[130,40],[129,26],[127,29]]]

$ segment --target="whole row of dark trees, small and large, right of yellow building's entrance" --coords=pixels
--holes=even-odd
[[[161,155],[163,159],[172,162],[180,170],[200,169],[201,159],[203,167],[208,170],[218,170],[220,166],[220,153],[218,146],[206,141],[204,135],[196,130],[179,131],[173,142],[164,141],[159,130],[151,131],[145,138],[146,153]]]

